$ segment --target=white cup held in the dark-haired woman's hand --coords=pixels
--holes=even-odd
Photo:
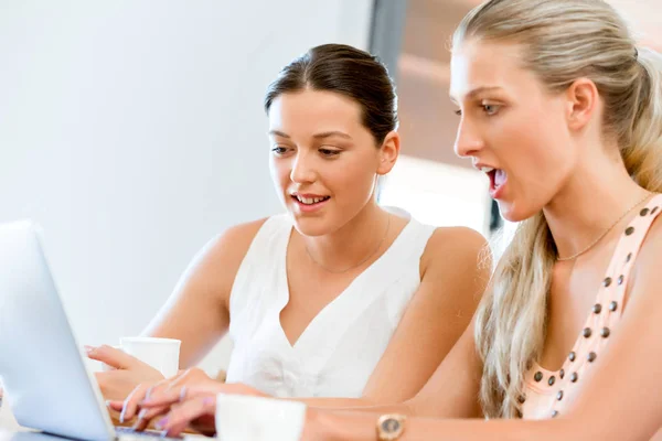
[[[124,337],[121,349],[159,370],[163,377],[174,377],[179,372],[181,340],[156,337]]]

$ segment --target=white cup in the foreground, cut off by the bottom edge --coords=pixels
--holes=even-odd
[[[218,394],[215,422],[218,441],[298,441],[306,422],[306,405]]]

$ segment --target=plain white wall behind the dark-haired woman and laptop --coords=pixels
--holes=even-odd
[[[207,239],[279,209],[265,87],[316,44],[365,49],[371,4],[0,3],[0,222],[43,225],[82,343],[139,333]]]

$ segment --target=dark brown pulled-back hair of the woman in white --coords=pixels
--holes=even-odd
[[[323,44],[285,66],[267,88],[265,110],[282,94],[305,89],[344,95],[362,108],[362,123],[377,146],[397,128],[397,95],[376,56],[344,44]]]

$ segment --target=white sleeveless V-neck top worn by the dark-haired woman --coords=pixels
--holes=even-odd
[[[435,227],[409,222],[391,247],[311,321],[292,346],[280,326],[289,301],[287,214],[255,236],[229,300],[234,349],[227,383],[281,398],[357,398],[420,284],[420,257]],[[406,363],[406,361],[403,361]]]

